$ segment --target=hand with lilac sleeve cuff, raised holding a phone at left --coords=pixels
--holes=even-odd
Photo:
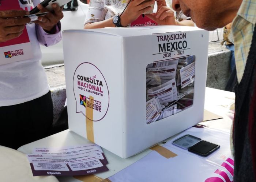
[[[48,12],[41,4],[37,5],[41,12]],[[36,24],[37,39],[40,44],[48,47],[58,43],[61,39],[60,19],[63,18],[62,9],[57,4],[52,4],[53,12],[38,17]]]

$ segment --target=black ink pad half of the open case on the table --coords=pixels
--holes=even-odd
[[[205,140],[201,140],[200,142],[196,143],[195,145],[188,148],[188,151],[195,153],[197,155],[201,155],[206,157],[219,149],[219,145],[207,142]]]

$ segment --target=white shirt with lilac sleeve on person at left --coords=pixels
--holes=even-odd
[[[21,0],[17,0],[21,1]],[[27,1],[30,3],[29,1]],[[39,0],[33,1],[35,5]],[[20,7],[30,9],[33,4],[22,5]],[[44,67],[41,64],[42,53],[39,41],[42,44],[57,43],[61,40],[61,34],[54,35],[45,33],[41,27],[35,24],[26,25],[31,43],[31,52],[34,58],[19,62],[0,65],[0,107],[11,106],[24,103],[49,92]],[[37,33],[36,33],[37,32]],[[44,32],[44,33],[42,33]],[[50,39],[54,39],[51,42]],[[5,59],[3,56],[0,59]]]

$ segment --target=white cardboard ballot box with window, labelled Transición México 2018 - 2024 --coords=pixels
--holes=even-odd
[[[203,120],[208,32],[63,32],[69,129],[128,158]]]

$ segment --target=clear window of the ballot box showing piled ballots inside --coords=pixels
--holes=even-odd
[[[148,64],[146,123],[182,112],[193,105],[195,56]]]

